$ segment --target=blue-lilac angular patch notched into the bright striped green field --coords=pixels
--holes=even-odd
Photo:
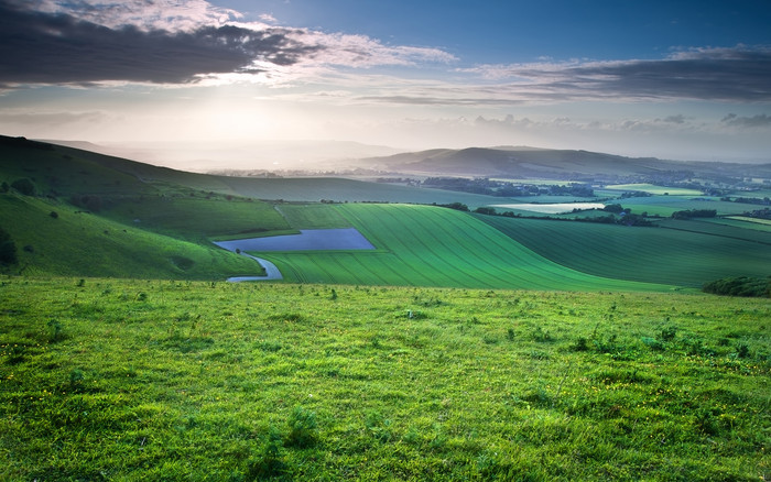
[[[300,234],[272,235],[215,242],[228,251],[373,250],[356,228],[301,229]]]

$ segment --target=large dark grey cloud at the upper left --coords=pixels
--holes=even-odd
[[[0,84],[184,84],[206,74],[259,73],[256,61],[286,66],[321,48],[298,37],[281,28],[110,29],[0,0]]]

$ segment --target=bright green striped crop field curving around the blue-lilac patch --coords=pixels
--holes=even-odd
[[[251,254],[301,283],[528,288],[671,291],[588,275],[554,263],[468,213],[410,205],[337,205],[374,247],[357,252]]]

